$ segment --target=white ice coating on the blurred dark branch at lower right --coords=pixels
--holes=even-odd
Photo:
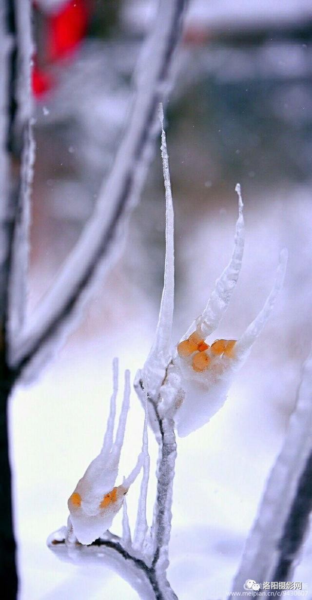
[[[266,484],[256,521],[245,544],[241,565],[233,582],[233,592],[241,592],[250,574],[256,581],[276,579],[274,573],[281,553],[287,552],[288,549],[291,554],[287,556],[290,565],[296,560],[296,553],[291,551],[289,540],[286,542],[284,539],[284,527],[292,511],[293,502],[298,499],[302,473],[308,460],[311,460],[311,389],[312,351],[303,367],[296,406],[289,419],[283,447]],[[302,500],[304,499],[299,498],[300,515],[304,509]],[[298,514],[296,520],[298,523]],[[294,530],[290,529],[289,534],[293,536]]]

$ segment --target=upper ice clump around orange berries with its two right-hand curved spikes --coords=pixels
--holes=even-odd
[[[274,286],[262,310],[247,327],[239,340],[205,339],[217,327],[229,305],[230,296],[238,280],[244,249],[244,220],[242,217],[241,188],[236,185],[239,197],[239,217],[236,223],[235,245],[232,259],[215,283],[208,305],[188,329],[176,347],[173,355],[173,368],[169,367],[169,377],[162,393],[166,400],[166,386],[175,385],[182,395],[180,406],[176,407],[175,423],[179,436],[205,425],[223,406],[233,377],[242,367],[250,353],[251,346],[260,335],[267,322],[277,297],[283,287],[287,265],[287,250],[280,253],[280,262]],[[161,406],[160,406],[161,410]]]

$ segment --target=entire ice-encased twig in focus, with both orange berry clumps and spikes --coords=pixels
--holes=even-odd
[[[160,118],[161,124],[163,124],[162,109],[160,109]],[[131,585],[135,589],[137,589],[138,582],[140,582],[140,585],[144,585],[147,581],[150,586],[149,589],[154,593],[154,596],[151,596],[152,598],[176,600],[175,592],[173,592],[167,580],[176,459],[175,428],[177,428],[180,435],[186,435],[208,422],[209,418],[223,405],[234,374],[247,358],[250,347],[262,331],[283,286],[287,253],[286,251],[281,252],[280,264],[272,291],[259,315],[248,326],[245,334],[242,335],[242,341],[216,340],[209,346],[202,337],[203,332],[212,332],[220,322],[229,304],[241,268],[244,248],[244,220],[241,190],[237,185],[239,217],[236,223],[232,259],[217,280],[215,290],[212,292],[202,316],[194,322],[193,326],[196,327],[196,331],[191,332],[187,339],[182,340],[171,354],[169,347],[174,292],[173,208],[166,136],[163,128],[161,155],[166,192],[164,289],[155,340],[148,359],[142,370],[138,371],[134,383],[137,395],[145,407],[142,452],[139,454],[136,466],[130,476],[124,479],[123,484],[105,493],[105,478],[107,489],[115,484],[130,395],[129,379],[126,372],[124,401],[115,443],[113,443],[112,431],[117,394],[116,363],[114,363],[113,394],[103,449],[100,455],[92,461],[68,501],[71,512],[68,529],[62,529],[53,534],[48,543],[59,556],[65,556],[66,559],[75,562],[79,562],[85,556],[88,557],[88,560],[91,560],[92,557],[97,560],[99,554],[95,548],[98,547],[105,549],[102,556],[104,558],[109,556],[111,560],[111,552],[113,551],[115,558],[116,554],[119,555],[119,563],[122,563],[121,557],[125,559],[126,570],[130,564],[136,569],[136,576],[133,580],[130,578]],[[157,494],[150,528],[146,518],[149,480],[147,415],[158,443]],[[110,448],[110,446],[112,447]],[[127,507],[123,502],[123,497],[142,466],[143,477],[132,541]],[[121,508],[122,503],[124,505],[122,537],[119,538],[110,533],[107,527],[112,523],[113,516]],[[71,530],[72,526],[74,531]],[[82,547],[80,545],[77,547],[77,539],[73,536],[73,533],[82,542]],[[101,537],[96,539],[97,535],[101,535]],[[85,544],[91,544],[88,546],[90,552]],[[60,548],[59,552],[58,548]],[[122,576],[127,579],[126,575]],[[144,593],[145,595],[142,595],[142,598],[149,598],[146,592]]]

